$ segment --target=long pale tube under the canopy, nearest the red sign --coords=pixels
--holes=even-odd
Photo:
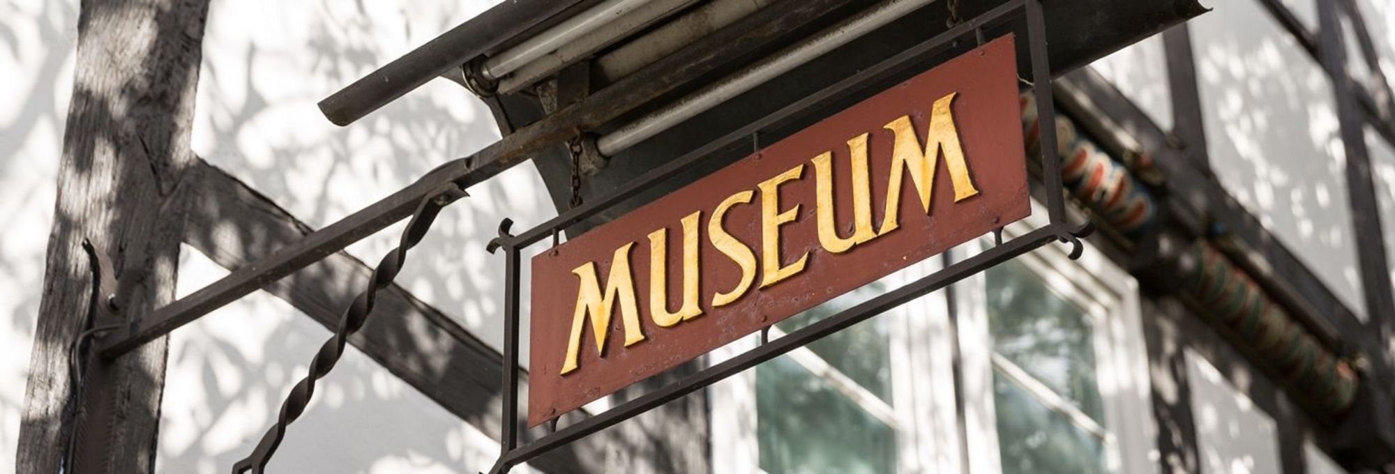
[[[767,61],[760,61],[748,67],[714,85],[703,88],[686,98],[679,99],[670,107],[639,118],[619,130],[597,139],[596,146],[601,155],[614,155],[619,151],[649,139],[674,125],[710,110],[757,85],[770,81],[795,67],[808,63],[827,52],[862,38],[883,25],[901,18],[915,8],[923,7],[935,0],[886,0],[876,7],[868,8],[858,15],[840,22],[815,35],[812,39],[787,47],[776,53]]]

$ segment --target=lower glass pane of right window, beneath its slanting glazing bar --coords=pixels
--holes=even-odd
[[[1105,446],[993,369],[1003,474],[1105,473]]]

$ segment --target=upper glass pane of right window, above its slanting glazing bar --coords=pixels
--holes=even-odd
[[[1009,261],[986,273],[993,351],[1103,421],[1085,312],[1052,293],[1023,262]]]

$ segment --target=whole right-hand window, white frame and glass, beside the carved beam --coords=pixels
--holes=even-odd
[[[1027,229],[1010,226],[1004,238]],[[972,243],[957,255],[989,245]],[[954,291],[971,473],[1156,471],[1127,273],[1098,251],[1077,262],[1048,245]]]

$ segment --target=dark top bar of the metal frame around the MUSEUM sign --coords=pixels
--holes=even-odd
[[[668,163],[664,163],[649,173],[644,173],[643,176],[629,181],[629,184],[626,184],[625,187],[621,187],[598,198],[591,198],[582,206],[568,209],[566,212],[562,212],[557,217],[552,217],[533,229],[523,231],[522,234],[513,237],[512,241],[509,241],[509,244],[518,247],[527,247],[544,238],[548,238],[550,236],[555,236],[558,230],[566,229],[578,222],[582,222],[586,217],[590,217],[601,211],[605,211],[607,208],[621,201],[629,199],[636,194],[649,190],[653,185],[653,183],[674,177],[675,174],[684,171],[685,169],[713,158],[711,156],[713,153],[724,148],[749,141],[751,137],[756,135],[757,132],[770,125],[790,120],[798,116],[799,113],[806,112],[808,109],[816,107],[817,105],[838,100],[847,96],[848,93],[852,93],[852,91],[861,84],[876,82],[877,79],[886,78],[887,75],[896,72],[900,67],[904,67],[917,60],[923,60],[926,54],[932,54],[937,49],[949,46],[951,40],[964,36],[976,28],[992,24],[1000,20],[1003,15],[1020,8],[1023,6],[1023,1],[1024,0],[1010,0],[1007,3],[1003,3],[995,7],[993,10],[989,10],[972,20],[968,20],[963,24],[956,25],[954,28],[950,28],[939,35],[935,35],[933,38],[925,42],[908,47],[904,52],[897,53],[896,56],[891,56],[877,63],[873,67],[861,70],[857,74],[852,74],[838,82],[834,82],[823,89],[819,89],[815,93],[810,93],[799,100],[795,100],[794,103],[784,106],[780,110],[776,110],[774,113],[762,117],[760,120],[756,120],[745,127],[734,130],[727,135],[723,135],[721,138],[713,139],[700,148],[689,151],[682,156],[670,160]]]

